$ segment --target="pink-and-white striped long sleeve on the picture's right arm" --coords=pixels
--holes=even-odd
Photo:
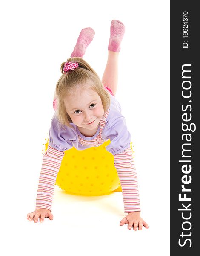
[[[117,169],[122,187],[124,212],[140,212],[137,172],[131,148],[114,155],[114,166]]]

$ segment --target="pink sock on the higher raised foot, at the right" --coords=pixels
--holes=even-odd
[[[120,52],[120,44],[125,32],[124,24],[119,20],[112,20],[110,26],[109,51]]]

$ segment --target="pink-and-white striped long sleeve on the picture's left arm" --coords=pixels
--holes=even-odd
[[[43,154],[35,209],[45,208],[51,211],[57,173],[64,154],[64,151],[58,151],[50,145],[48,145],[46,152]]]

